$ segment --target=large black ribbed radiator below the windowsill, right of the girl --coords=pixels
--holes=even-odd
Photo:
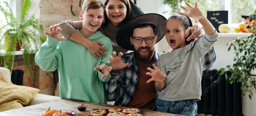
[[[220,71],[208,70],[202,75],[201,100],[196,101],[197,113],[218,116],[243,116],[241,83],[232,85],[219,75]],[[228,77],[230,71],[226,71]]]

